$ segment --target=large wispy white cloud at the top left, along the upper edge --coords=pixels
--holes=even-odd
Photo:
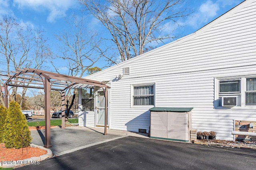
[[[48,10],[48,22],[54,22],[58,18],[66,16],[68,9],[76,4],[74,0],[14,0],[14,5],[18,8],[32,8],[33,10],[41,12]]]

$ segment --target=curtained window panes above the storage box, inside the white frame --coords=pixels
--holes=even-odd
[[[133,105],[154,105],[154,85],[134,86]]]

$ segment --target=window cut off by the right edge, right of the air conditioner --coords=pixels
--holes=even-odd
[[[246,78],[245,104],[256,105],[256,78]]]

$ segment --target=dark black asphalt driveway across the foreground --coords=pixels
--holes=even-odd
[[[50,158],[19,170],[255,169],[256,150],[124,137]]]

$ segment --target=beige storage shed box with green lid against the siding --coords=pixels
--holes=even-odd
[[[188,142],[192,107],[152,107],[150,138]]]

